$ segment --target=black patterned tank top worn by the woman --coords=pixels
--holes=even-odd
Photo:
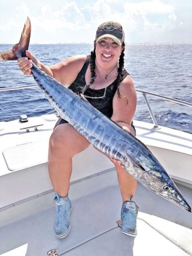
[[[81,71],[77,75],[76,80],[69,86],[69,89],[73,91],[73,93],[80,94],[86,86],[86,71],[87,67],[90,63],[90,55],[87,56],[87,60],[84,63]],[[127,71],[123,69],[123,76],[122,80],[125,79],[125,77],[128,75]],[[120,82],[122,81],[120,80]],[[120,84],[118,83],[117,79],[113,81],[112,84],[110,84],[108,87],[106,87],[106,94],[104,98],[100,99],[92,99],[92,98],[87,98],[88,102],[90,102],[91,105],[94,106],[94,108],[98,109],[101,113],[103,113],[105,116],[108,116],[108,118],[111,118],[112,113],[113,113],[113,107],[112,107],[112,102],[113,102],[113,96],[115,95],[115,92]],[[91,97],[102,97],[104,95],[105,88],[99,89],[99,90],[94,90],[92,88],[88,88],[86,90],[85,95],[91,96]]]

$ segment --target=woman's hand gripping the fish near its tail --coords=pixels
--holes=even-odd
[[[20,67],[20,70],[22,70],[23,74],[26,74],[26,76],[31,76],[32,62],[34,62],[35,65],[38,66],[38,61],[35,58],[35,56],[33,56],[33,54],[31,54],[29,51],[26,51],[26,56],[27,57],[17,59],[17,63]]]

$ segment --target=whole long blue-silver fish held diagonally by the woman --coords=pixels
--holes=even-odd
[[[1,52],[0,60],[10,61],[25,55],[31,33],[27,17],[20,42]],[[191,212],[182,193],[150,150],[128,131],[104,116],[91,104],[49,76],[33,63],[33,77],[59,115],[67,120],[99,151],[117,159],[125,170],[144,187]]]

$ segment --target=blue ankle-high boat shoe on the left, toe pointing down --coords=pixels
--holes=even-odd
[[[69,197],[59,197],[56,194],[56,216],[54,221],[54,231],[58,238],[67,236],[70,230],[70,212],[72,204]]]

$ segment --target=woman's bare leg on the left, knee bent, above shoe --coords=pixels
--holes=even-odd
[[[69,192],[72,157],[90,143],[68,123],[59,125],[49,140],[48,169],[54,190],[61,197]]]

